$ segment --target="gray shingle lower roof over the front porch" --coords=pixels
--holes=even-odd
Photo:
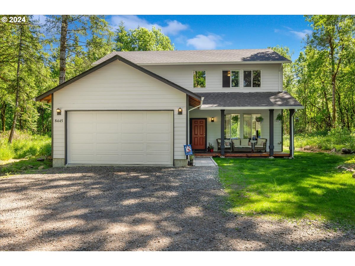
[[[294,107],[303,109],[303,106],[288,92],[222,92],[197,93],[204,97],[202,109],[223,109],[228,107]],[[279,108],[280,109],[280,108]]]

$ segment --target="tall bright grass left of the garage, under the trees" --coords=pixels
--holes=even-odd
[[[7,143],[9,131],[0,135],[0,160],[31,158],[50,155],[51,139],[49,136],[32,135],[16,131],[11,144]]]

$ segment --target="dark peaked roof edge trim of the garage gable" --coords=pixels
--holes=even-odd
[[[148,76],[151,76],[151,77],[153,77],[155,79],[158,79],[159,81],[161,81],[161,82],[163,82],[163,83],[165,83],[165,84],[167,84],[167,85],[169,85],[169,86],[171,86],[171,87],[173,87],[175,89],[178,89],[181,92],[186,93],[187,95],[189,95],[189,96],[191,96],[191,97],[193,97],[195,99],[201,100],[201,96],[199,96],[199,95],[191,92],[190,90],[187,90],[187,89],[181,87],[180,85],[175,84],[175,83],[169,81],[168,79],[165,79],[165,78],[163,78],[163,77],[161,77],[161,76],[159,76],[159,75],[157,75],[157,74],[155,74],[155,73],[153,73],[153,72],[151,72],[151,71],[149,71],[149,70],[147,70],[147,69],[145,69],[145,68],[143,68],[141,66],[138,66],[135,63],[133,63],[133,62],[131,62],[131,61],[119,56],[119,55],[114,55],[113,57],[103,61],[102,63],[99,63],[98,65],[90,68],[89,70],[87,70],[87,71],[85,71],[85,72],[83,72],[83,73],[81,73],[81,74],[69,79],[68,81],[58,85],[57,87],[55,87],[55,88],[53,88],[51,90],[48,90],[47,92],[37,96],[36,98],[34,98],[34,100],[35,101],[41,101],[41,100],[43,100],[46,97],[48,98],[48,96],[51,95],[52,93],[54,93],[54,92],[56,92],[56,91],[58,91],[58,90],[60,90],[60,89],[62,89],[64,87],[66,87],[67,85],[69,85],[69,84],[71,84],[71,83],[73,83],[73,82],[75,82],[75,81],[87,76],[88,74],[90,74],[90,73],[92,73],[92,72],[94,72],[94,71],[96,71],[96,70],[108,65],[109,63],[111,63],[111,62],[113,62],[115,60],[119,60],[119,61],[121,61],[123,63],[126,63],[127,65],[129,65],[129,66],[131,66],[133,68],[136,68],[137,70],[147,74]]]

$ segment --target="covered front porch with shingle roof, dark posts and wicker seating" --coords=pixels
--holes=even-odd
[[[303,108],[287,92],[203,93],[189,108],[189,143],[196,156],[294,157],[294,114]],[[289,110],[285,117],[284,110]],[[262,121],[260,121],[260,118]],[[282,121],[279,119],[282,118]],[[290,145],[283,150],[283,121]],[[209,152],[208,146],[214,147]]]

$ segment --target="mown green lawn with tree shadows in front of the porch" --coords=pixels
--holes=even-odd
[[[355,179],[338,165],[354,156],[296,152],[295,159],[215,158],[229,194],[229,210],[240,215],[317,218],[355,226]]]

